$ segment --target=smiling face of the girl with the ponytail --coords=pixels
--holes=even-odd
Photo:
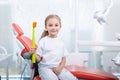
[[[48,19],[45,28],[48,31],[48,36],[56,37],[61,28],[61,25],[57,18],[50,18]]]

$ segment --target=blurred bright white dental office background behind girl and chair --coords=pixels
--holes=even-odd
[[[0,80],[30,80],[30,62],[21,56],[24,46],[20,47],[12,24],[19,25],[23,35],[31,39],[32,22],[36,21],[37,44],[49,14],[61,18],[59,37],[70,53],[66,66],[85,67],[93,73],[99,70],[120,78],[120,0],[0,0]]]

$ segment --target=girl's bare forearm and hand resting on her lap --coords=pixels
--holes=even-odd
[[[57,75],[60,74],[66,63],[66,57],[62,57],[62,61],[58,67],[53,68],[53,72]]]

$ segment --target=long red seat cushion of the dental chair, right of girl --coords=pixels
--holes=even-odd
[[[87,68],[84,66],[68,65],[65,66],[78,79],[85,80],[119,80],[111,73],[103,72],[96,69]]]

